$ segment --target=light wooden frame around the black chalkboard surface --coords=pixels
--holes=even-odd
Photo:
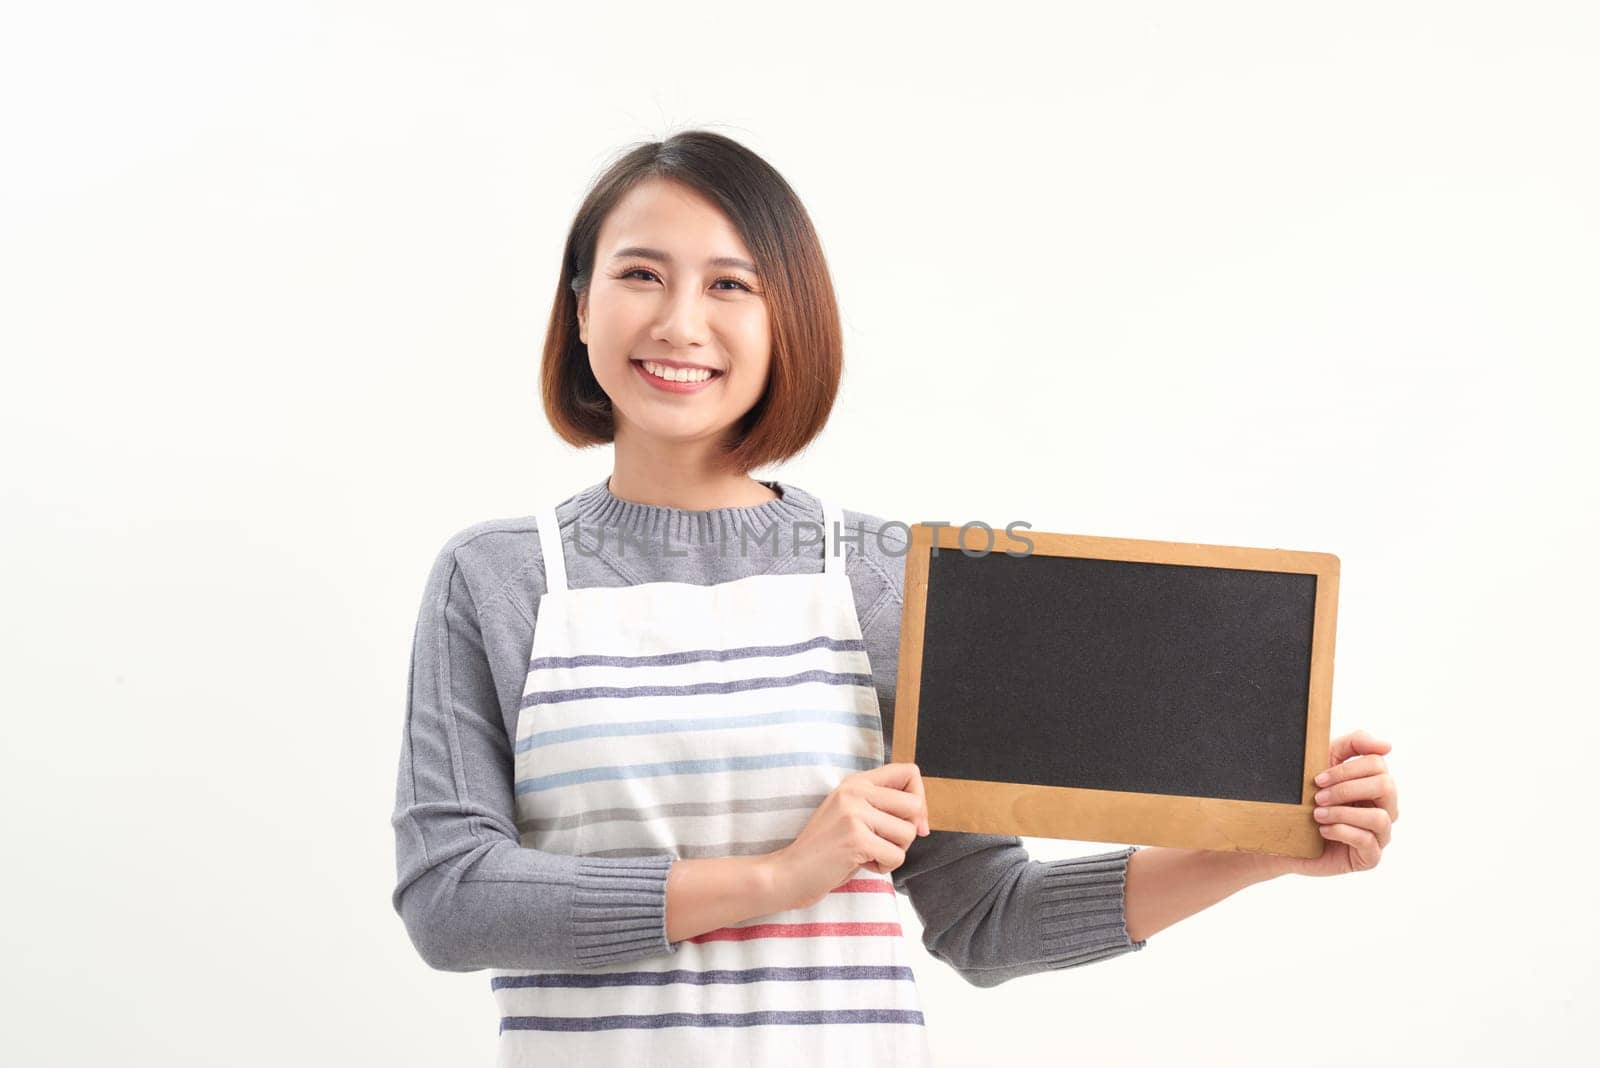
[[[1011,540],[1005,524],[978,526],[971,552],[1027,552]],[[906,604],[901,616],[899,681],[894,715],[893,763],[917,759],[917,707],[922,694],[923,624],[928,606],[928,560],[933,547],[960,552],[957,526],[915,524],[906,553]],[[992,532],[994,544],[989,544]],[[1026,531],[1032,555],[1195,564],[1317,576],[1310,641],[1310,687],[1306,710],[1306,761],[1299,804],[1224,798],[1122,793],[1070,787],[1019,785],[970,779],[923,777],[928,823],[938,830],[986,835],[1027,835],[1080,841],[1176,846],[1237,852],[1318,857],[1325,839],[1312,817],[1317,785],[1312,777],[1328,766],[1328,726],[1333,699],[1333,636],[1339,600],[1339,558],[1280,548],[1242,548],[1154,542],[1082,534]]]

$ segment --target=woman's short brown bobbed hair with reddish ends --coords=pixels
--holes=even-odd
[[[739,142],[706,130],[624,150],[578,208],[544,336],[544,412],[570,444],[584,448],[614,438],[611,398],[595,381],[578,337],[578,296],[594,273],[600,225],[634,185],[650,177],[683,182],[722,208],[755,257],[773,329],[771,369],[723,460],[741,475],[786,460],[821,433],[834,409],[843,373],[838,302],[811,217],[789,182]]]

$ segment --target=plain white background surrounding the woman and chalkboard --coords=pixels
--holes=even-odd
[[[538,403],[562,240],[693,126],[845,315],[762,476],[1338,553],[1333,727],[1395,747],[1374,871],[1142,953],[978,990],[902,899],[939,1063],[1587,1057],[1595,8],[581,6],[8,5],[8,1057],[491,1063],[387,899],[411,630],[610,472]]]

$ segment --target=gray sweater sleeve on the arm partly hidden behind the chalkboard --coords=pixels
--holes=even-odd
[[[898,560],[899,569],[864,558],[864,566],[882,576],[862,636],[878,692],[885,755],[894,748],[899,678],[904,556]],[[912,841],[893,879],[910,897],[928,953],[974,986],[997,986],[1142,950],[1144,940],[1128,937],[1125,918],[1128,857],[1138,849],[1034,860],[1013,835],[936,830]]]

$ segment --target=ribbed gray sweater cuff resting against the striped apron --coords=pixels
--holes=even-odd
[[[573,951],[579,967],[677,953],[667,942],[672,854],[579,857],[573,891]]]

